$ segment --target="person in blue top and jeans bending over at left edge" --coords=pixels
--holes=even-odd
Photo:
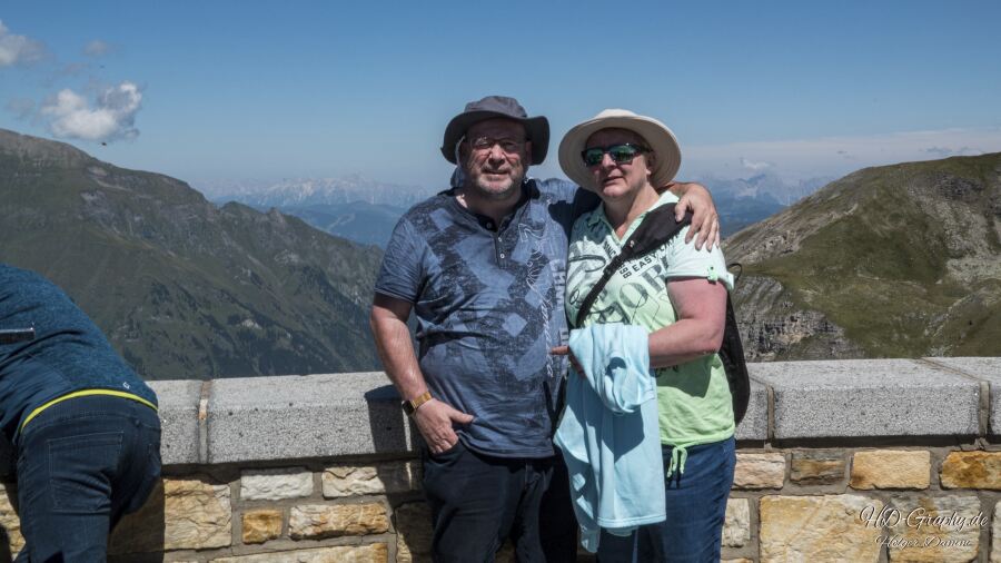
[[[16,561],[103,562],[111,529],[159,480],[156,394],[62,290],[3,264],[0,336],[0,429],[26,540]]]

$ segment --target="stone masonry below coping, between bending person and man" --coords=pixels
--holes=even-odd
[[[116,530],[112,561],[419,561],[419,486],[414,460],[167,476]]]

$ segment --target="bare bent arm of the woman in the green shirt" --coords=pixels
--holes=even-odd
[[[726,287],[702,277],[673,278],[667,294],[677,322],[650,335],[650,366],[676,366],[718,350],[726,323]]]

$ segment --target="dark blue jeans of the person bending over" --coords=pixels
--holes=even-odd
[[[159,480],[160,419],[128,398],[71,398],[28,423],[17,455],[16,561],[103,562],[111,529]]]

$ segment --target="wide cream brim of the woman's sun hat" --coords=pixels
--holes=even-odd
[[[643,137],[656,155],[650,182],[655,188],[674,179],[681,168],[681,147],[666,125],[645,116],[605,116],[589,119],[571,128],[559,141],[559,167],[563,174],[578,186],[596,191],[594,176],[584,164],[581,151],[584,144],[602,129],[627,129]]]

